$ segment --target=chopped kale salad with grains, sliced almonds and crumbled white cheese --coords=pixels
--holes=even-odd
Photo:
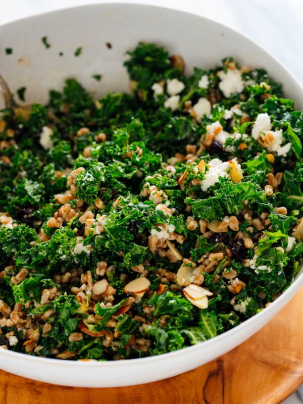
[[[2,112],[1,348],[164,354],[265,310],[300,269],[303,113],[281,85],[232,58],[186,77],[155,44],[128,56],[132,94],[68,79]]]

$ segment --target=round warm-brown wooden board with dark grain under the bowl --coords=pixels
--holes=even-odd
[[[75,388],[0,371],[0,403],[277,404],[301,383],[303,288],[256,335],[217,360],[180,376],[131,387]]]

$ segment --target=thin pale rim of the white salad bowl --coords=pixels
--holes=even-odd
[[[181,13],[181,14],[186,14],[195,18],[199,18],[201,20],[207,21],[211,24],[216,25],[217,27],[224,27],[225,30],[230,31],[231,33],[238,35],[242,38],[244,38],[246,41],[257,47],[260,51],[265,52],[271,59],[272,61],[276,64],[279,65],[282,69],[284,69],[285,73],[287,73],[288,77],[291,78],[298,88],[303,91],[303,86],[298,82],[295,76],[289,70],[284,66],[283,63],[278,61],[270,52],[268,52],[266,49],[264,49],[260,44],[257,42],[251,40],[249,37],[247,37],[245,34],[242,34],[241,32],[225,25],[220,22],[217,22],[211,18],[204,17],[198,14],[194,14],[192,12],[186,12],[180,9],[176,8],[169,8],[169,7],[162,7],[158,5],[152,5],[152,4],[142,4],[137,0],[134,0],[132,3],[120,3],[119,1],[107,1],[103,3],[88,3],[88,4],[83,4],[83,5],[77,5],[77,6],[68,6],[64,8],[60,8],[57,10],[51,10],[51,11],[46,11],[46,12],[41,12],[38,14],[34,14],[31,16],[23,17],[23,18],[18,18],[16,20],[9,21],[7,23],[1,24],[0,25],[0,31],[2,30],[3,27],[7,27],[9,25],[14,25],[18,24],[20,22],[26,21],[26,20],[33,20],[33,19],[39,19],[42,16],[45,15],[55,15],[55,14],[60,14],[62,12],[67,12],[69,10],[75,10],[75,9],[84,9],[84,8],[102,8],[102,7],[124,7],[124,8],[144,8],[144,9],[159,9],[164,12],[174,12],[174,13]],[[187,352],[191,351],[198,351],[200,346],[203,345],[204,347],[207,347],[209,345],[217,343],[217,341],[223,341],[224,338],[231,337],[233,334],[237,333],[238,331],[242,330],[243,328],[248,328],[249,326],[253,326],[255,323],[259,323],[259,318],[265,317],[265,313],[267,314],[267,317],[272,317],[272,313],[277,314],[278,311],[280,311],[287,302],[290,300],[290,298],[294,295],[295,292],[299,290],[299,288],[303,286],[303,267],[300,269],[299,273],[295,277],[295,279],[292,281],[292,283],[286,288],[282,294],[275,299],[271,304],[266,307],[265,309],[261,310],[259,313],[255,314],[254,316],[244,320],[242,323],[237,325],[236,327],[231,328],[228,331],[223,332],[222,334],[219,334],[211,339],[208,339],[206,341],[197,343],[195,345],[191,345],[188,347],[184,347],[181,349],[178,349],[176,351],[171,351],[167,352],[166,354],[160,354],[156,356],[150,356],[150,357],[144,357],[144,358],[135,358],[135,359],[126,359],[124,361],[106,361],[106,360],[63,360],[63,359],[55,359],[55,358],[47,358],[47,357],[39,357],[39,356],[31,356],[28,354],[23,354],[22,352],[15,352],[13,350],[7,350],[7,349],[0,349],[0,356],[2,355],[3,357],[7,358],[16,358],[19,361],[34,361],[36,364],[43,363],[43,364],[58,364],[60,367],[70,367],[70,366],[81,366],[84,368],[96,368],[96,367],[104,367],[104,368],[109,368],[109,367],[115,367],[115,368],[124,368],[124,367],[129,367],[131,364],[148,364],[149,362],[156,362],[156,361],[162,361],[164,358],[172,358],[180,355],[186,355]],[[280,306],[280,301],[281,299],[286,300],[284,305]],[[268,322],[268,321],[267,321]],[[256,329],[251,335],[254,335],[256,332],[259,331],[259,328]],[[247,339],[245,339],[247,340]],[[238,344],[237,344],[238,345]],[[236,346],[237,346],[236,345]],[[71,365],[73,364],[73,365]]]

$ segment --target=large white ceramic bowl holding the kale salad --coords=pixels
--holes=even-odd
[[[47,36],[51,47],[43,45]],[[102,4],[26,18],[0,27],[1,68],[10,87],[26,86],[26,102],[47,100],[48,90],[61,89],[76,77],[95,96],[128,91],[125,53],[138,41],[164,45],[180,54],[186,73],[194,66],[210,68],[226,56],[240,65],[264,67],[282,82],[285,95],[303,107],[303,89],[290,73],[262,48],[239,33],[208,19],[169,9]],[[109,48],[106,43],[110,42]],[[74,56],[78,47],[82,54]],[[64,56],[60,57],[59,53]],[[102,81],[91,76],[102,74]],[[303,284],[303,274],[268,308],[211,340],[169,354],[117,362],[73,362],[37,358],[0,350],[0,368],[20,376],[68,386],[113,387],[147,383],[203,365],[239,345],[263,327]]]

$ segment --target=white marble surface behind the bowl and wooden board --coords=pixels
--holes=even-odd
[[[88,3],[109,2],[103,0],[89,2],[84,0],[2,0],[0,24],[47,11]],[[120,0],[112,3],[140,3],[169,7],[225,24],[261,45],[303,85],[303,0]],[[293,394],[284,401],[284,404],[301,402],[298,395]]]

